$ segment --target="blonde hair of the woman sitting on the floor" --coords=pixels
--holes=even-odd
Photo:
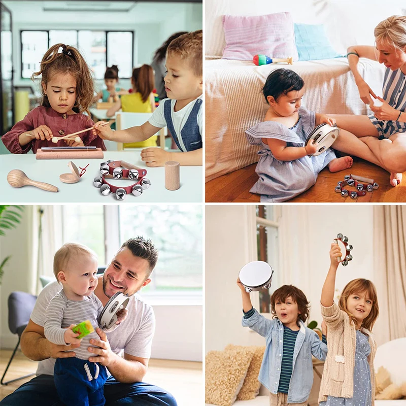
[[[390,16],[374,29],[375,41],[384,41],[404,52],[406,47],[406,16]]]

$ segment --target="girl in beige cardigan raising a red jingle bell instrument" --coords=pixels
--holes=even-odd
[[[375,398],[376,344],[370,331],[379,315],[374,284],[354,279],[334,303],[335,275],[342,253],[331,244],[330,268],[321,292],[321,311],[328,329],[328,354],[321,379],[320,406],[371,406]]]

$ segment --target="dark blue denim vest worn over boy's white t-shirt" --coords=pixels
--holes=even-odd
[[[202,103],[201,98],[198,98],[195,101],[180,134],[176,133],[172,122],[171,101],[171,99],[164,101],[163,115],[165,117],[166,126],[168,127],[168,130],[171,131],[171,135],[176,145],[182,152],[194,151],[202,148],[203,143],[201,141],[201,134],[197,123],[197,113],[199,112]]]

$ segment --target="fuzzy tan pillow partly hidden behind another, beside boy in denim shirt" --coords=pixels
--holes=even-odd
[[[245,377],[242,388],[237,395],[237,400],[251,400],[259,393],[261,383],[258,381],[259,370],[261,369],[262,357],[265,351],[265,347],[250,346],[234,346],[229,344],[225,351],[234,351],[235,349],[242,349],[245,351],[254,351],[250,366],[248,367],[247,376]]]

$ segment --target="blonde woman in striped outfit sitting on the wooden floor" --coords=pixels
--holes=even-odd
[[[368,116],[329,115],[342,131],[334,148],[382,166],[390,172],[390,183],[400,183],[406,171],[406,17],[391,16],[374,30],[376,46],[348,48],[348,62],[359,95],[373,113]],[[368,58],[386,66],[383,98],[377,97],[358,72],[359,58]],[[378,98],[382,106],[374,105]],[[351,133],[349,133],[351,132]],[[354,135],[357,137],[354,137]]]

